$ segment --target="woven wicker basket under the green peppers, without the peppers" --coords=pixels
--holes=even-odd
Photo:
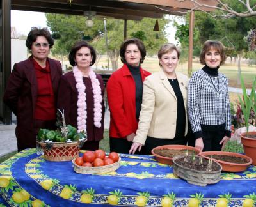
[[[49,161],[70,161],[79,157],[80,142],[49,143],[39,142],[44,150],[44,158]]]

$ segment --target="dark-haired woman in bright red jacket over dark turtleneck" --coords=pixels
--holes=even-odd
[[[110,109],[110,151],[129,153],[138,128],[143,81],[150,75],[140,64],[146,56],[143,42],[137,38],[125,40],[120,48],[124,65],[112,73],[107,84]]]

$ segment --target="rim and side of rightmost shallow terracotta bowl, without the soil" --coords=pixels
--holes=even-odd
[[[223,160],[216,160],[216,159],[212,158],[212,160],[221,164],[223,171],[227,171],[227,172],[245,171],[246,168],[250,164],[252,164],[252,159],[250,157],[248,157],[246,155],[241,155],[239,153],[233,153],[233,152],[228,152],[228,151],[204,151],[204,152],[200,153],[200,156],[210,159],[209,157],[207,157],[207,155],[230,155],[230,156],[235,156],[235,157],[241,157],[248,161],[247,163],[239,164],[239,163],[225,162]]]

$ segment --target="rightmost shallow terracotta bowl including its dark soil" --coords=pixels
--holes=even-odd
[[[233,153],[228,151],[204,151],[200,156],[218,162],[222,166],[223,171],[241,172],[252,164],[252,159],[246,155]]]

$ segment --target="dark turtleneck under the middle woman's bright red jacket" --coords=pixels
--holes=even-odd
[[[132,77],[135,82],[135,104],[136,104],[136,118],[139,119],[141,104],[142,104],[142,93],[143,93],[143,82],[140,75],[140,66],[131,66],[126,63]]]

